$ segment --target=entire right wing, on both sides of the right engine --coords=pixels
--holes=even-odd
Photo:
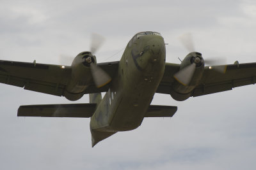
[[[172,83],[175,81],[173,74],[177,71],[179,71],[179,64],[166,63],[163,79],[157,89],[158,93],[170,94]],[[191,96],[223,92],[254,83],[256,83],[256,63],[227,65],[225,74],[205,67],[202,79]]]

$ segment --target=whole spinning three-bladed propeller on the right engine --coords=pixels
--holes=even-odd
[[[182,45],[188,50],[188,52],[195,52],[193,38],[190,32],[180,36],[179,40],[182,43]],[[179,72],[174,74],[174,78],[177,81],[179,81],[182,85],[189,85],[193,77],[193,74],[195,73],[196,65],[199,65],[200,62],[204,62],[206,65],[209,66],[209,69],[214,69],[215,71],[218,71],[220,73],[225,73],[227,69],[226,65],[215,66],[220,63],[225,63],[226,60],[223,58],[202,59],[202,57],[195,57],[195,59],[193,60],[193,62],[191,62],[189,66],[180,69]]]

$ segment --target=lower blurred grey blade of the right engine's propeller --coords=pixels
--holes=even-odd
[[[184,67],[184,69],[181,69],[179,72],[174,74],[174,78],[179,81],[182,85],[189,85],[191,78],[193,77],[193,74],[196,69],[196,64],[193,63],[189,65],[188,67]]]

